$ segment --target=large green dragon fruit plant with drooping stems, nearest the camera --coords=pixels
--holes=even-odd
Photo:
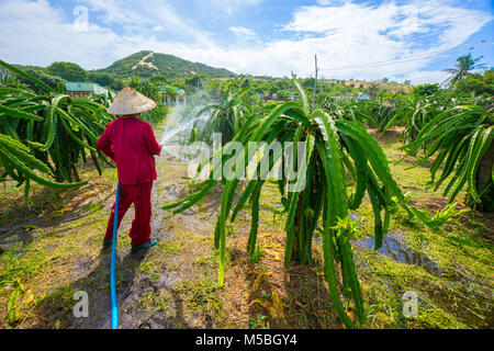
[[[224,284],[226,224],[234,222],[239,211],[249,203],[251,227],[247,250],[255,254],[259,227],[259,199],[267,180],[263,176],[274,169],[278,162],[287,162],[284,152],[263,152],[260,160],[250,157],[260,149],[252,143],[265,143],[268,147],[274,143],[297,145],[303,141],[304,149],[293,147],[292,160],[299,163],[296,178],[289,172],[281,172],[277,180],[281,203],[285,208],[287,233],[284,264],[293,262],[307,264],[312,262],[312,238],[315,230],[323,234],[324,272],[333,304],[346,327],[356,322],[362,325],[366,318],[360,284],[357,276],[350,239],[355,237],[355,225],[349,218],[350,210],[356,210],[367,194],[372,203],[374,214],[375,248],[381,247],[383,235],[388,230],[392,199],[411,214],[427,224],[417,210],[406,204],[405,197],[390,171],[388,160],[372,136],[359,123],[338,118],[323,110],[312,110],[300,83],[294,83],[302,95],[302,102],[287,102],[266,109],[261,115],[247,116],[233,141],[244,148],[231,155],[228,144],[210,158],[212,171],[207,181],[193,185],[194,192],[184,199],[164,206],[180,213],[205,196],[220,182],[224,183],[220,215],[214,233],[214,244],[220,249],[218,284]],[[254,148],[254,149],[252,149]],[[233,152],[232,152],[233,154]],[[214,158],[221,156],[221,162]],[[287,154],[284,154],[287,155]],[[294,161],[293,161],[294,162]],[[215,172],[225,165],[235,165],[235,172],[247,172],[247,167],[257,169],[258,176],[248,180],[245,189],[240,186],[242,178],[214,179]],[[269,167],[262,167],[269,165]],[[294,163],[293,163],[294,165]],[[263,169],[263,170],[262,170]],[[355,183],[350,185],[350,182]],[[234,195],[240,193],[234,203]],[[339,285],[344,294],[353,302],[356,320],[347,315]]]

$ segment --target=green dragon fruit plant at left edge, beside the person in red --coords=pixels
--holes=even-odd
[[[111,121],[100,103],[70,98],[63,86],[55,90],[2,60],[0,66],[45,91],[38,94],[20,84],[0,86],[0,162],[4,169],[0,178],[24,184],[27,199],[30,181],[58,189],[86,184],[76,166],[89,155],[100,173],[101,160],[111,165],[94,147]]]

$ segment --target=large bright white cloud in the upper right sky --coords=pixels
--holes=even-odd
[[[319,4],[330,5],[302,7],[283,29],[304,33],[307,38],[296,43],[297,50],[307,56],[311,49],[319,54],[321,66],[335,78],[378,79],[416,72],[492,21],[491,15],[481,11],[441,1],[415,0],[401,5],[388,1],[379,5],[340,3],[334,5],[334,1],[322,0]],[[391,63],[411,56],[416,59],[358,67],[364,63]],[[438,75],[429,77],[436,79]],[[426,76],[417,78],[425,79]]]

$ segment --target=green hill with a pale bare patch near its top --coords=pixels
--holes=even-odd
[[[165,75],[168,78],[184,78],[194,75],[211,78],[237,76],[224,68],[214,68],[204,64],[192,63],[173,55],[157,54],[150,50],[135,53],[113,63],[106,68],[98,69],[96,71],[108,72],[119,78],[127,78],[133,73],[136,73],[141,78],[149,78],[154,75]]]

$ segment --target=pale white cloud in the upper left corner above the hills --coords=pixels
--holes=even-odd
[[[123,43],[112,31],[91,23],[87,32],[77,32],[71,19],[47,1],[1,2],[0,33],[0,57],[41,66],[72,60],[96,68],[112,57],[112,44]]]

